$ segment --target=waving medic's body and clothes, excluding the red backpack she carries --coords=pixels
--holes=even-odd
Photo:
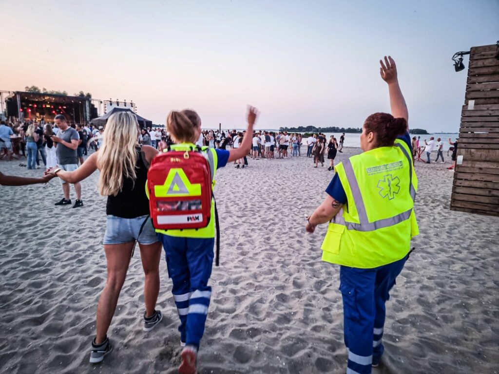
[[[247,134],[252,134],[256,109],[249,107]],[[190,109],[172,111],[167,118],[167,130],[176,144],[186,150],[195,147],[201,133],[201,118]],[[214,172],[228,162],[241,160],[251,147],[251,136],[245,136],[238,148],[230,151],[209,149],[214,158]],[[212,176],[214,179],[215,176]],[[214,202],[212,200],[212,217]],[[196,358],[205,330],[212,288],[208,286],[213,265],[215,219],[207,227],[183,230],[156,230],[166,253],[168,275],[172,279],[172,294],[180,319],[180,342],[185,346],[179,368],[181,374],[196,374]]]

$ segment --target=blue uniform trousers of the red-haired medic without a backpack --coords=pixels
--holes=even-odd
[[[407,257],[373,269],[340,266],[347,374],[370,374],[383,354],[385,302]]]

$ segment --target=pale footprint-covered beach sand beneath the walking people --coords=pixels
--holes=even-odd
[[[358,152],[345,148],[337,161]],[[42,174],[18,164],[0,162],[0,170]],[[421,235],[387,303],[385,354],[373,373],[499,372],[499,219],[449,210],[449,165],[416,165]],[[221,266],[213,269],[199,373],[345,372],[339,269],[320,260],[326,225],[304,230],[333,176],[326,168],[300,157],[218,172]],[[106,277],[97,177],[82,183],[80,209],[53,205],[62,197],[57,179],[0,187],[0,373],[176,373],[180,337],[166,264],[164,319],[144,333],[138,251],[109,330],[114,352],[88,363]]]

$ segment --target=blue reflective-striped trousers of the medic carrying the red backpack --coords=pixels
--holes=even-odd
[[[180,340],[199,348],[205,331],[212,288],[214,238],[184,238],[158,234],[166,253],[168,276],[180,318]]]

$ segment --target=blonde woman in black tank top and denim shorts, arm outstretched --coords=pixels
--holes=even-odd
[[[98,189],[101,195],[107,196],[107,225],[103,240],[107,281],[97,305],[97,334],[92,340],[91,363],[101,362],[112,350],[107,331],[136,241],[139,243],[145,274],[144,331],[152,330],[163,318],[161,312],[155,310],[159,292],[161,243],[149,219],[149,200],[144,187],[149,163],[158,151],[150,146],[140,147],[139,134],[139,124],[134,114],[115,113],[107,121],[102,147],[80,168],[74,172],[58,168],[47,172],[65,182],[75,183],[99,169]]]

